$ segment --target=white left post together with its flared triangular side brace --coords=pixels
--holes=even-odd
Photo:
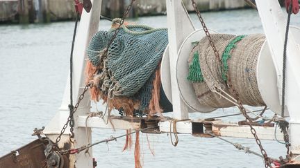
[[[74,44],[74,59],[73,59],[73,100],[74,104],[77,102],[78,97],[83,93],[85,87],[85,61],[88,60],[86,55],[86,48],[90,42],[92,36],[98,31],[99,19],[101,13],[101,0],[92,0],[92,10],[87,13],[83,10],[81,15],[81,21],[79,23],[76,39]],[[71,38],[71,37],[70,37]],[[56,137],[59,135],[60,130],[63,128],[67,118],[69,116],[69,77],[65,86],[65,93],[63,96],[63,102],[59,111],[54,118],[47,124],[44,129],[44,134],[55,142]],[[77,120],[79,115],[90,113],[90,95],[85,93],[81,104],[78,106],[76,113],[74,114],[74,144],[69,142],[69,127],[66,129],[59,147],[64,147],[65,144],[74,145],[74,147],[82,147],[91,142],[91,129],[85,129],[77,126]],[[88,138],[87,138],[88,135]],[[89,140],[89,141],[88,141]],[[89,153],[81,152],[70,156],[70,167],[87,167],[92,168],[92,149]]]

